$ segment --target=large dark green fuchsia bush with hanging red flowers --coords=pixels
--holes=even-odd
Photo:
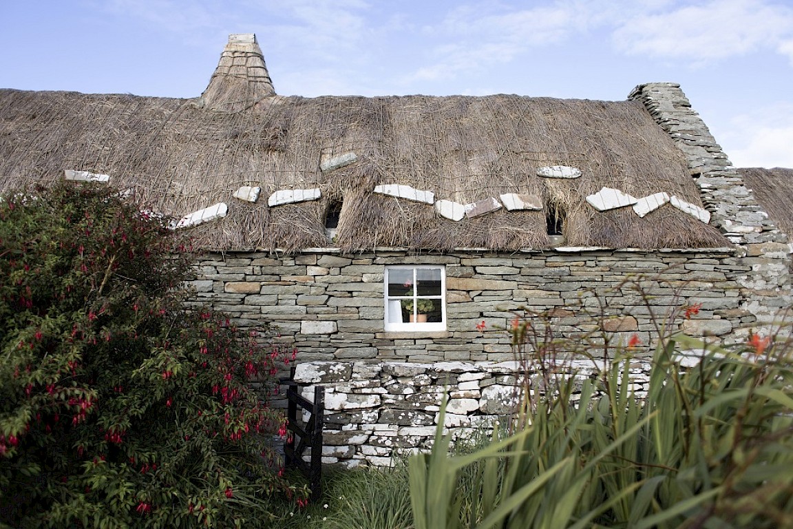
[[[233,527],[305,496],[248,385],[293,351],[186,310],[164,222],[106,187],[0,202],[0,526]]]

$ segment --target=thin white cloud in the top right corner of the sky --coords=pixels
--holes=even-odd
[[[624,17],[612,34],[628,54],[698,63],[751,52],[793,55],[793,10],[756,0],[711,0]],[[787,50],[787,51],[786,51]]]

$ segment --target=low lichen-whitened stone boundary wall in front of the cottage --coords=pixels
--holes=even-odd
[[[582,378],[603,369],[592,360],[565,366]],[[630,384],[639,394],[647,389],[650,366],[646,360],[631,366]],[[323,462],[353,467],[389,466],[394,456],[430,448],[444,393],[447,432],[454,438],[490,435],[515,411],[523,376],[516,361],[305,362],[294,380],[307,398],[316,385],[325,387]]]

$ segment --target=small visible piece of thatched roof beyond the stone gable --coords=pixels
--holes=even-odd
[[[749,167],[737,171],[771,220],[793,236],[793,169]]]

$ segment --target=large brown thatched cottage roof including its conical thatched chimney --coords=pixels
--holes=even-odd
[[[607,186],[702,204],[684,156],[639,102],[282,97],[271,93],[258,44],[233,46],[202,98],[0,90],[0,191],[79,170],[109,174],[148,208],[175,217],[223,201],[228,217],[192,228],[198,244],[214,249],[328,246],[325,218],[338,202],[336,243],[345,250],[550,246],[545,211],[501,209],[454,222],[431,205],[374,194],[380,184],[460,204],[536,194],[565,213],[573,246],[726,244],[715,228],[669,205],[640,218],[630,207],[600,213],[585,202]],[[221,68],[224,61],[239,68]],[[320,160],[347,152],[358,161],[320,169]],[[554,165],[583,176],[537,176],[538,167]],[[262,198],[232,198],[239,186],[262,187]],[[310,188],[320,188],[319,200],[267,205],[276,190]]]

